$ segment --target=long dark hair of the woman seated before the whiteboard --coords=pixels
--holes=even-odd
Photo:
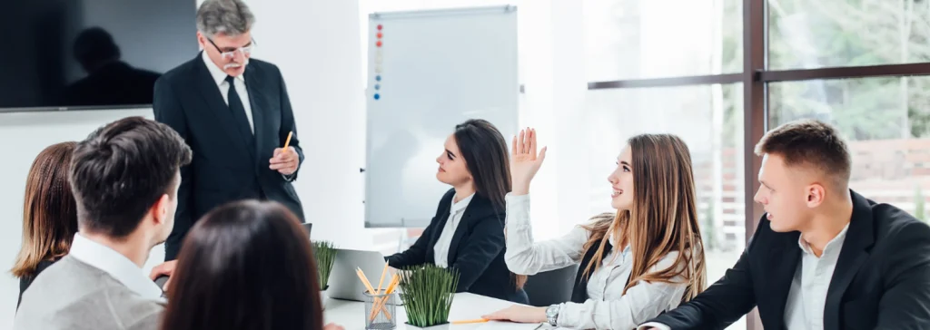
[[[470,119],[456,125],[458,151],[465,157],[465,166],[474,178],[474,191],[487,198],[491,205],[504,212],[504,196],[511,192],[511,161],[507,141],[498,127],[484,119]],[[501,222],[503,219],[501,219]],[[526,283],[525,275],[512,274],[518,288]]]

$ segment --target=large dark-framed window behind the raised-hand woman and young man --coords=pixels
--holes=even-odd
[[[836,125],[852,152],[851,188],[928,217],[927,0],[585,0],[584,7],[591,143],[618,152],[640,132],[687,141],[710,281],[736,260],[733,251],[763,213],[752,202],[761,163],[753,146],[791,120]],[[589,157],[592,211],[604,207],[606,156]],[[742,328],[762,329],[758,315],[729,327]]]

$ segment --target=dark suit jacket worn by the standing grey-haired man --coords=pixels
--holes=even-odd
[[[290,183],[297,173],[288,180],[268,168],[274,149],[284,146],[291,131],[290,146],[299,153],[301,163],[304,159],[284,79],[276,66],[259,59],[249,60],[245,78],[254,136],[236,125],[201,55],[155,82],[155,120],[178,131],[193,150],[193,162],[180,170],[178,213],[166,242],[166,260],[177,257],[193,223],[218,205],[268,199],[304,218]]]

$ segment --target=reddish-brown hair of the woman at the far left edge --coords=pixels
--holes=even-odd
[[[68,254],[77,232],[77,205],[68,183],[75,142],[48,146],[35,157],[22,205],[22,247],[13,267],[33,276],[40,261]]]

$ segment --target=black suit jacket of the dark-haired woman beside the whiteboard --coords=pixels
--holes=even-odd
[[[449,218],[455,190],[449,190],[439,202],[436,216],[417,242],[402,253],[386,257],[393,268],[435,264],[433,246]],[[458,223],[449,246],[449,268],[458,271],[456,292],[471,292],[486,297],[527,304],[523,289],[517,289],[511,271],[504,263],[505,211],[496,209],[487,198],[475,193]]]

